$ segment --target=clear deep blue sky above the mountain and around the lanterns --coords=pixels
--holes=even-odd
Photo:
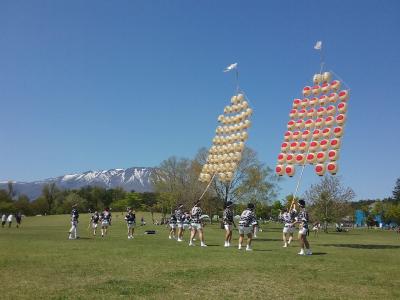
[[[248,145],[274,167],[316,40],[352,91],[343,181],[387,197],[400,177],[396,0],[1,1],[0,180],[193,157],[233,93],[233,62],[254,108]],[[317,181],[306,169],[301,191]]]

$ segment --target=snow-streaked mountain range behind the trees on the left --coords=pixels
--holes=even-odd
[[[111,169],[104,171],[87,171],[80,174],[67,174],[55,178],[33,182],[13,182],[16,196],[27,195],[36,199],[45,184],[55,183],[60,189],[79,189],[84,186],[99,186],[103,188],[121,187],[126,191],[151,192],[150,175],[152,168],[133,167],[128,169]],[[7,189],[7,182],[0,182],[0,189]]]

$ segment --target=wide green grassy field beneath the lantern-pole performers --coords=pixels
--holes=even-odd
[[[209,247],[200,248],[169,240],[164,226],[139,227],[128,240],[121,214],[109,236],[94,238],[88,216],[80,219],[79,240],[67,239],[67,215],[0,228],[1,299],[400,299],[395,232],[311,234],[314,255],[301,257],[297,243],[282,248],[278,224],[263,225],[245,252],[222,247],[217,225],[205,228]]]

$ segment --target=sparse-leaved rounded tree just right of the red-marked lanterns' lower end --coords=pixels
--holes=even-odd
[[[340,222],[351,213],[349,202],[355,197],[354,191],[343,187],[339,177],[325,176],[320,183],[311,185],[305,192],[305,199],[311,204],[310,212],[314,220],[324,222],[324,231],[328,231],[328,223]]]

